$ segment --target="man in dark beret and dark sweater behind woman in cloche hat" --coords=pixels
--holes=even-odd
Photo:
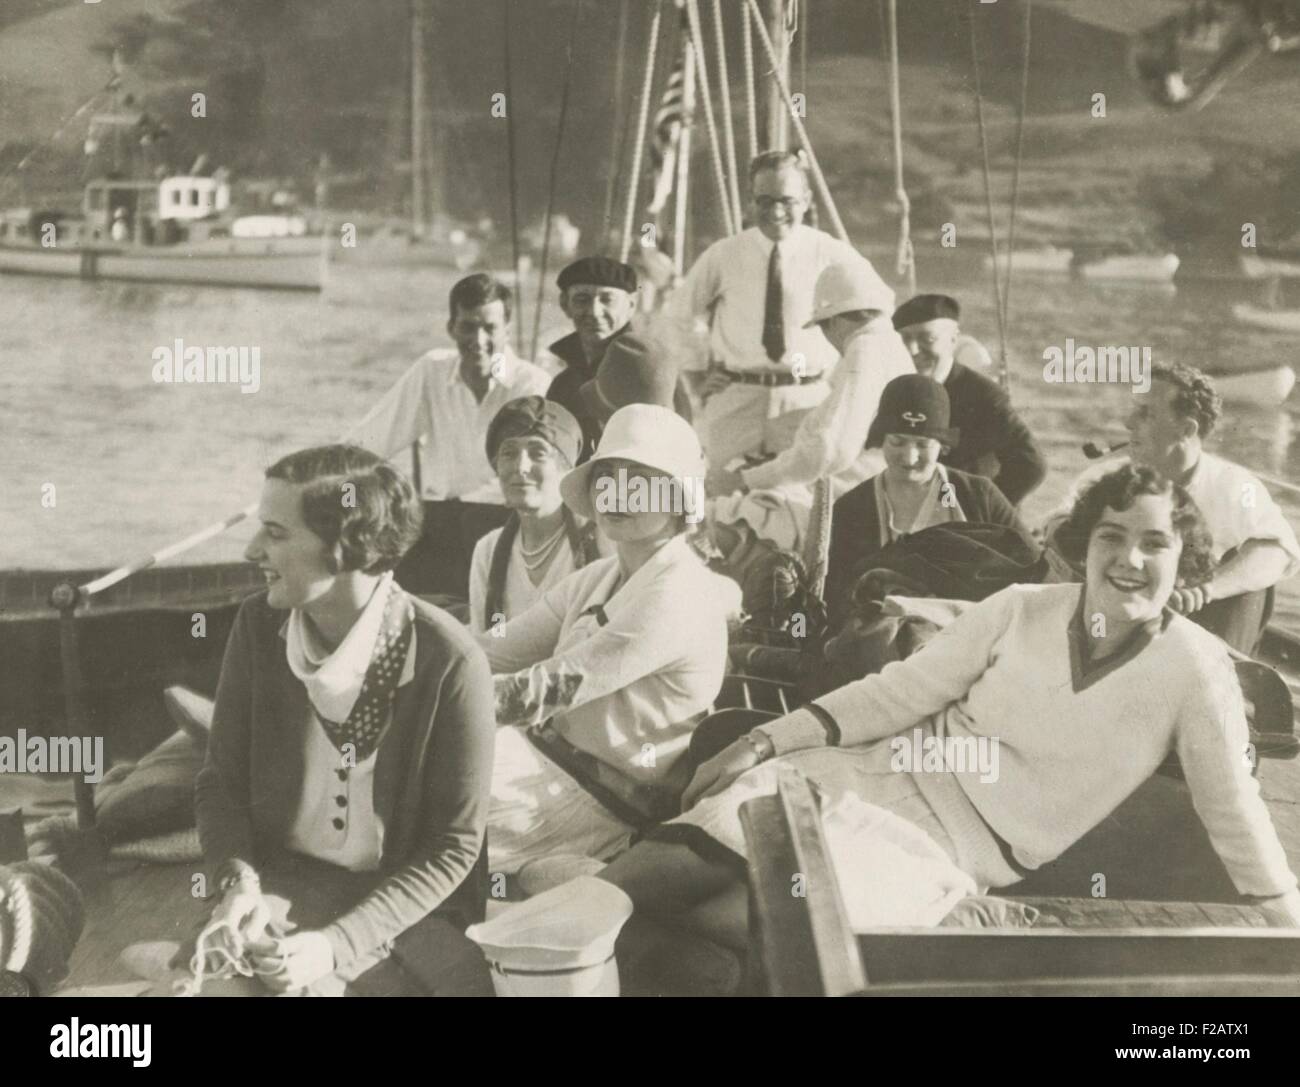
[[[961,443],[940,458],[950,468],[987,476],[1018,506],[1046,476],[1030,428],[1006,393],[956,361],[961,307],[944,294],[918,294],[894,311],[894,328],[911,351],[916,373],[942,384]]]

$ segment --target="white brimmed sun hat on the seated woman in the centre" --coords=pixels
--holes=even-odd
[[[595,455],[560,480],[564,504],[586,519],[592,506],[592,472],[602,460],[634,460],[681,485],[684,510],[692,523],[703,516],[705,455],[694,428],[677,412],[658,404],[628,404],[604,424]]]

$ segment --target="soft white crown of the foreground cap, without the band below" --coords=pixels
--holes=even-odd
[[[612,883],[582,875],[471,924],[465,935],[491,961],[520,971],[599,966],[632,917],[632,900]]]

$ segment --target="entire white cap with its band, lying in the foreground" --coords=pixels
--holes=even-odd
[[[614,941],[629,917],[623,891],[584,875],[465,935],[482,948],[498,996],[618,996]]]

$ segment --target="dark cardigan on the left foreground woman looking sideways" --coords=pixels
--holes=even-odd
[[[443,611],[415,605],[415,679],[399,687],[374,766],[384,824],[376,885],[324,930],[335,969],[390,943],[439,906],[482,917],[476,871],[488,818],[495,722],[482,650]],[[282,856],[300,805],[307,731],[320,728],[289,670],[285,612],[259,593],[239,609],[221,666],[208,753],[196,781],[213,872]]]

